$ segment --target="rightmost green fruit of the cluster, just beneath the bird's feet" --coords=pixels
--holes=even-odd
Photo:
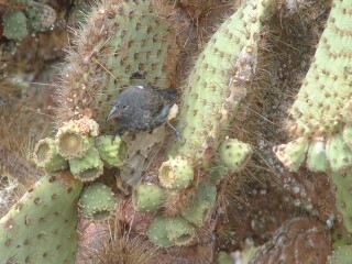
[[[128,146],[120,136],[101,135],[95,139],[101,161],[110,167],[119,167],[127,161]]]

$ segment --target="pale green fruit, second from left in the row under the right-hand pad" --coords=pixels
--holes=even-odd
[[[308,147],[306,166],[310,172],[323,173],[330,168],[323,139],[316,139]]]

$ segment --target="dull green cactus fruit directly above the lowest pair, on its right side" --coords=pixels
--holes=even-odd
[[[182,216],[188,222],[201,227],[210,217],[217,199],[217,188],[200,182],[191,194],[188,205],[182,209]]]

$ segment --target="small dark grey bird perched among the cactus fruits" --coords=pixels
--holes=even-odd
[[[123,131],[152,131],[167,122],[175,103],[176,89],[155,86],[130,86],[123,90],[107,118],[117,119],[117,134]]]

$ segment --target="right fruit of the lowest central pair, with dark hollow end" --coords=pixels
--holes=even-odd
[[[196,229],[180,217],[168,219],[166,231],[168,239],[179,246],[189,245],[196,237]]]

